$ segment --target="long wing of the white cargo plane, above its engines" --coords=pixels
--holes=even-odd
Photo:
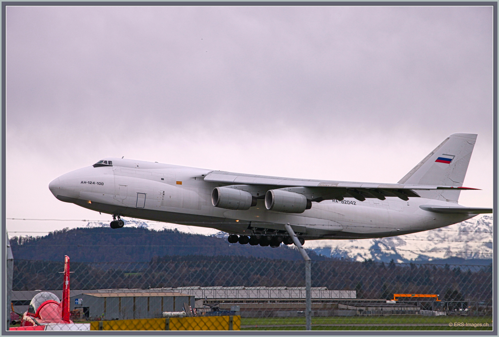
[[[408,197],[419,197],[415,190],[463,190],[475,188],[460,186],[427,186],[427,185],[404,185],[404,184],[382,184],[382,183],[364,183],[351,181],[332,181],[332,180],[313,180],[313,179],[293,179],[272,176],[260,176],[251,174],[242,174],[225,171],[212,171],[206,175],[205,181],[224,184],[247,184],[247,185],[267,185],[272,188],[305,188],[306,194],[314,194],[316,198],[312,201],[321,201],[327,199],[343,199],[352,197],[357,200],[366,198],[378,198],[384,200],[385,197],[399,197],[408,200]],[[263,187],[263,186],[262,186]],[[269,188],[269,189],[272,189]],[[296,191],[297,192],[297,191]],[[305,194],[305,193],[304,193]],[[307,198],[308,199],[308,198]]]

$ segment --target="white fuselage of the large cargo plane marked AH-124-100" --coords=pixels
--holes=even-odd
[[[65,202],[113,215],[215,228],[238,235],[284,232],[290,223],[305,240],[363,239],[397,236],[449,226],[476,214],[442,214],[420,205],[457,206],[442,200],[397,197],[359,201],[354,198],[312,202],[303,213],[265,208],[264,193],[248,210],[212,204],[212,191],[232,183],[204,180],[213,170],[106,158],[112,166],[88,166],[66,173],[49,185]],[[264,191],[268,189],[262,186]]]

